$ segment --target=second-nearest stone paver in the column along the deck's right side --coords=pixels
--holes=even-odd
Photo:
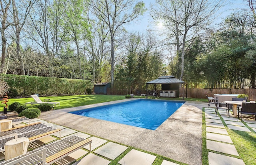
[[[213,151],[219,151],[219,152],[239,156],[238,152],[236,151],[235,146],[232,144],[226,144],[226,143],[221,143],[221,142],[217,142],[217,141],[206,140],[206,148],[213,150]]]

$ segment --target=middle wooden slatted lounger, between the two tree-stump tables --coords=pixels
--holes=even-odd
[[[8,130],[2,130],[0,132],[0,151],[4,151],[4,144],[10,139],[14,139],[14,135],[18,134],[18,138],[24,137],[28,138],[29,141],[35,141],[46,136],[50,136],[59,132],[61,138],[61,129],[57,129],[51,126],[42,124],[41,122],[28,124],[25,126],[20,126],[16,128],[10,128]],[[6,136],[10,136],[6,138]]]

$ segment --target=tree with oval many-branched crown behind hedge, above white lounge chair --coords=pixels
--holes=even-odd
[[[57,55],[66,35],[68,25],[63,22],[65,0],[37,0],[30,14],[30,37],[44,49],[49,59],[50,77],[54,77],[54,57]]]

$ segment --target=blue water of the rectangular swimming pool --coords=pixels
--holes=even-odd
[[[156,130],[182,104],[184,102],[134,100],[69,113]]]

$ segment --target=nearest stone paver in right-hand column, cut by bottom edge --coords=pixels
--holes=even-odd
[[[208,153],[209,165],[245,165],[242,159],[221,155],[218,153]]]

